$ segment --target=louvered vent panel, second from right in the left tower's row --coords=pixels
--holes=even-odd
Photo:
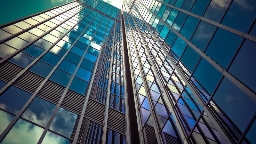
[[[105,115],[105,106],[89,99],[84,116],[89,120],[97,122],[99,124],[103,124]]]

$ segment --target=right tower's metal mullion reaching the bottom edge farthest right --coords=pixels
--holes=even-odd
[[[143,5],[144,6],[144,5]],[[144,6],[145,7],[145,6]],[[135,10],[137,11],[137,9],[135,8]],[[137,11],[138,12],[138,11]],[[140,15],[140,13],[139,13]],[[141,17],[141,15],[140,15]],[[142,17],[141,17],[142,18]],[[144,19],[142,19],[143,22],[145,23]],[[148,24],[145,23],[146,26],[148,27]],[[156,37],[155,33],[152,32],[152,36]],[[156,38],[156,41],[159,43],[159,40]],[[167,57],[169,58],[169,60],[173,63],[174,68],[178,71],[178,73],[180,74],[180,76],[182,77],[183,81],[185,82],[185,84],[188,86],[188,88],[190,89],[190,91],[193,93],[193,95],[195,96],[196,100],[198,102],[200,102],[200,106],[203,108],[204,112],[206,112],[207,116],[210,116],[209,118],[214,119],[214,116],[212,116],[212,113],[208,110],[208,107],[205,106],[205,104],[203,103],[203,101],[201,100],[201,98],[199,97],[199,95],[196,93],[196,91],[194,90],[194,88],[190,85],[190,83],[188,82],[188,80],[186,79],[186,77],[183,75],[183,73],[181,73],[180,69],[177,67],[177,65],[175,64],[175,62],[172,60],[172,58],[170,57],[170,55],[168,54],[168,52],[163,48],[162,43],[161,44],[161,49],[163,49],[163,51],[167,54]],[[230,143],[229,137],[227,137],[226,135],[226,131],[223,131],[223,128],[220,127],[220,125],[218,124],[217,121],[212,121],[212,123],[214,124],[214,126],[216,127],[216,129],[218,130],[218,132],[220,132],[225,140],[226,143]]]

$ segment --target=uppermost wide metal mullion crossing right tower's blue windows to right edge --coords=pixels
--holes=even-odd
[[[225,26],[225,25],[223,25],[223,24],[220,24],[220,23],[218,23],[218,22],[215,22],[215,21],[206,19],[206,18],[204,18],[204,17],[202,17],[202,16],[199,16],[199,15],[196,15],[196,14],[194,14],[194,13],[185,11],[185,10],[183,10],[183,9],[181,9],[181,8],[177,8],[177,7],[172,6],[172,5],[170,5],[170,4],[166,4],[166,3],[161,2],[161,1],[159,1],[159,0],[155,0],[155,1],[157,1],[157,2],[159,2],[159,3],[162,3],[162,4],[165,4],[165,5],[169,6],[169,7],[172,7],[172,8],[174,8],[174,9],[178,10],[178,11],[184,12],[184,13],[186,13],[186,14],[188,14],[188,15],[191,15],[191,16],[197,18],[197,19],[200,19],[200,20],[203,20],[203,21],[205,21],[205,22],[208,22],[208,23],[210,23],[210,24],[212,24],[212,25],[214,25],[214,26],[217,26],[217,27],[220,27],[220,28],[222,28],[222,29],[225,29],[225,30],[227,30],[227,31],[229,31],[229,32],[231,32],[231,33],[234,33],[234,34],[238,35],[238,36],[242,36],[242,37],[247,38],[247,39],[249,39],[249,40],[251,40],[251,41],[253,41],[253,42],[256,42],[256,37],[254,37],[254,36],[251,36],[251,35],[249,35],[249,34],[246,34],[246,33],[244,33],[244,32],[241,32],[241,31],[239,31],[239,30],[236,30],[236,29],[234,29],[234,28],[230,28],[230,27]],[[209,3],[209,4],[210,4],[210,3]],[[148,8],[147,8],[147,9],[148,9]],[[224,16],[225,16],[225,15],[224,15]],[[224,18],[224,16],[223,16],[223,18]],[[253,22],[252,22],[252,23],[253,23]]]

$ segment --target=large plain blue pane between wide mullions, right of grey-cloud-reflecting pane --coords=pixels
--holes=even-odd
[[[242,39],[243,37],[218,28],[205,53],[223,68],[227,68]]]

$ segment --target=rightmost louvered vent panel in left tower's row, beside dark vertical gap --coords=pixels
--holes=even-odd
[[[109,108],[108,128],[125,135],[125,115]]]

